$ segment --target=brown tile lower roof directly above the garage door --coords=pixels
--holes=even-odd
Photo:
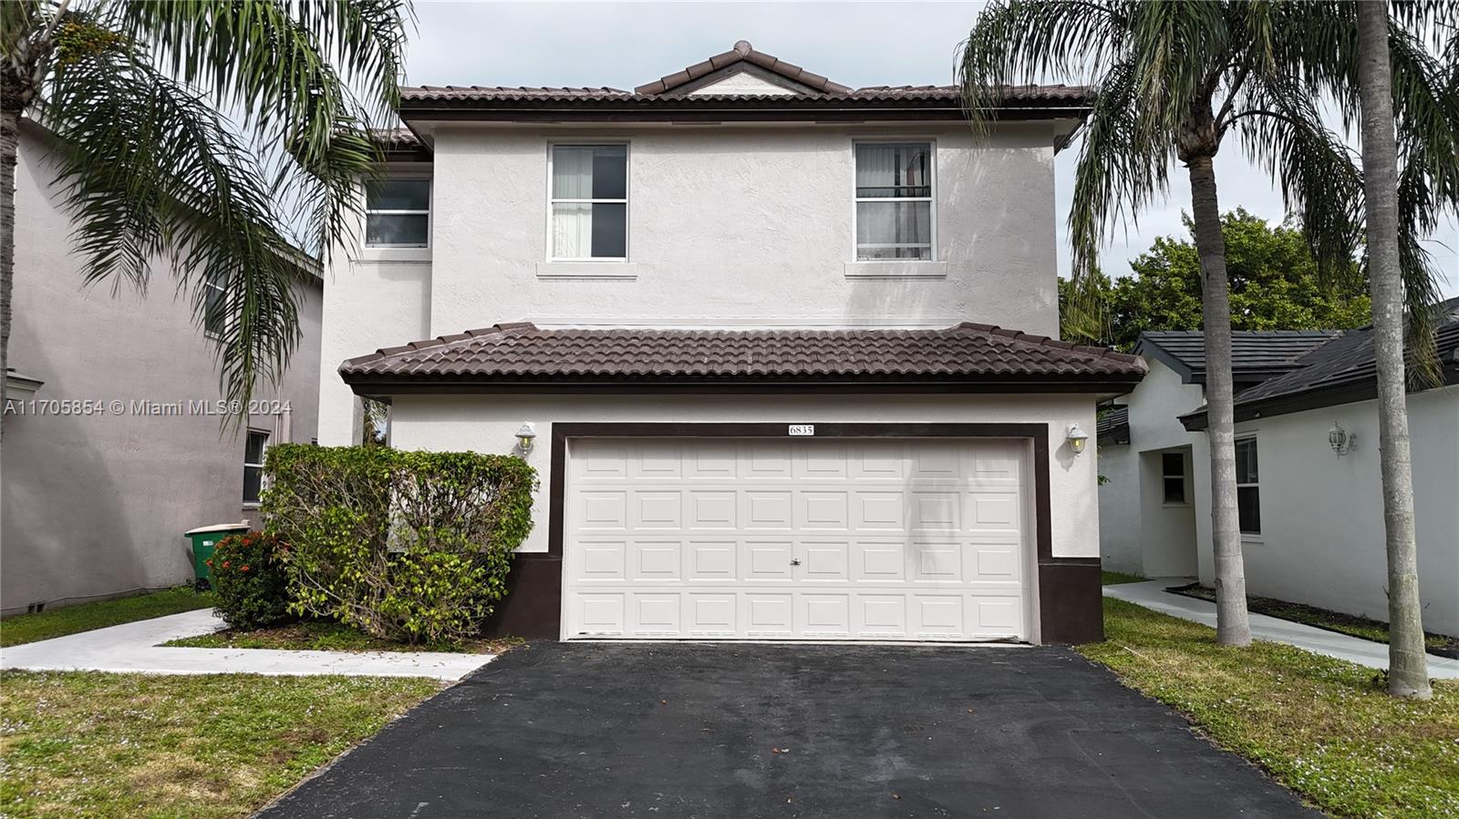
[[[983,324],[947,329],[540,329],[499,324],[350,358],[347,383],[1134,385],[1135,356]]]

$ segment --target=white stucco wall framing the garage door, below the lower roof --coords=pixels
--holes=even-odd
[[[391,443],[400,449],[521,453],[514,434],[531,421],[537,444],[525,455],[541,481],[533,533],[521,551],[547,551],[552,426],[570,421],[638,423],[1048,423],[1053,557],[1099,555],[1096,459],[1075,456],[1069,424],[1094,428],[1090,395],[492,395],[395,396]]]

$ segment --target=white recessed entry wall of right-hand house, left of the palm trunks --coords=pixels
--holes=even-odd
[[[1210,472],[1210,462],[1193,456],[1196,439],[1205,436],[1188,433],[1177,417],[1201,405],[1202,391],[1182,383],[1158,358],[1144,360],[1150,373],[1119,399],[1129,407],[1131,442],[1100,450],[1100,472],[1109,478],[1100,487],[1102,551],[1107,568],[1145,577],[1191,576],[1196,573],[1196,472]],[[1186,504],[1164,503],[1160,453],[1167,450],[1186,453]]]

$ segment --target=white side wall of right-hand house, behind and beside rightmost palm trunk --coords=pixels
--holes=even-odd
[[[1408,418],[1424,627],[1459,634],[1459,388],[1409,395]],[[1342,458],[1328,444],[1334,423],[1358,436]],[[1262,532],[1242,549],[1247,590],[1388,619],[1376,402],[1243,421],[1236,433],[1256,436],[1261,465]],[[1210,490],[1196,497],[1210,498]],[[1208,583],[1210,500],[1201,500],[1202,517]]]

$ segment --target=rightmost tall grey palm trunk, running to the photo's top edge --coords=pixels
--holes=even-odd
[[[1379,463],[1388,533],[1388,691],[1433,695],[1418,605],[1414,475],[1404,372],[1404,278],[1398,261],[1398,144],[1393,124],[1388,4],[1358,3],[1358,96],[1363,106],[1363,197],[1369,291],[1377,364]]]

